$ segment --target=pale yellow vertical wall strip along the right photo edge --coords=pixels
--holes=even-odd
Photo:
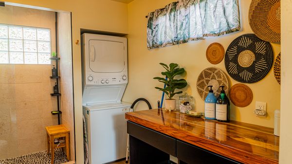
[[[292,1],[281,1],[281,129],[280,129],[280,164],[291,164],[292,154]]]

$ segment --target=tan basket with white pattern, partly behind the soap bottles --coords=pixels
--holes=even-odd
[[[213,86],[216,97],[219,96],[221,89],[219,86],[225,86],[225,93],[228,94],[229,82],[226,74],[217,67],[209,67],[204,69],[197,79],[197,91],[202,100],[205,100],[209,93],[208,86]]]

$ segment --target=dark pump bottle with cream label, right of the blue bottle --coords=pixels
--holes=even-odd
[[[224,86],[216,102],[216,120],[220,122],[230,121],[230,101],[225,94]]]

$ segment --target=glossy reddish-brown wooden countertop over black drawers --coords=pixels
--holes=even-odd
[[[279,137],[273,128],[221,123],[162,109],[128,112],[126,119],[244,164],[278,164]]]

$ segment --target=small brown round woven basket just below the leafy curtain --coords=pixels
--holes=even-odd
[[[209,45],[206,51],[207,60],[211,64],[218,64],[224,58],[224,48],[220,43],[212,43]]]

